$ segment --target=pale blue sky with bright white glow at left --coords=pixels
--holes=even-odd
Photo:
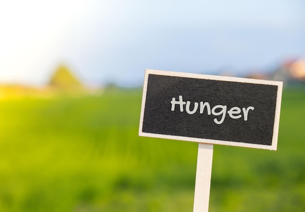
[[[144,70],[245,75],[305,55],[304,0],[0,0],[0,83],[43,85],[59,64],[84,83]]]

